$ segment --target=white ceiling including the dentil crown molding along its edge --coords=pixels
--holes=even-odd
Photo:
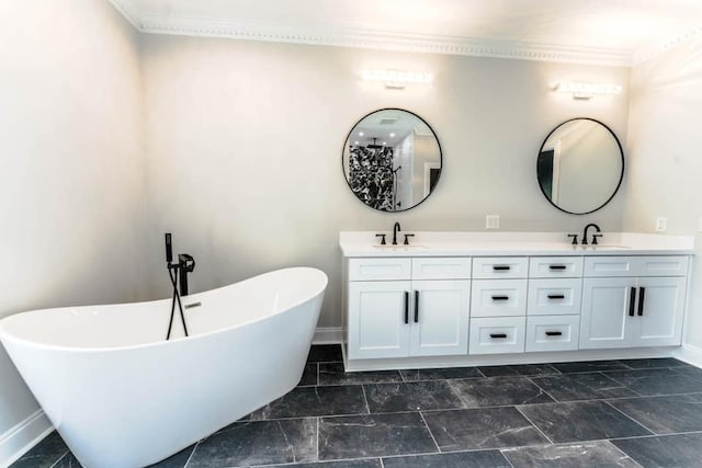
[[[702,34],[702,0],[110,0],[145,33],[632,65]]]

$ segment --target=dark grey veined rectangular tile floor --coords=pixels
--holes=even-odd
[[[79,467],[53,433],[12,465]],[[671,358],[343,372],[301,384],[159,468],[700,467],[702,369]]]

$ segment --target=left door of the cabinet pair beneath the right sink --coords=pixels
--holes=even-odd
[[[580,350],[627,347],[631,345],[630,322],[635,317],[635,278],[585,278],[582,282],[582,316]],[[631,309],[631,310],[630,310]]]

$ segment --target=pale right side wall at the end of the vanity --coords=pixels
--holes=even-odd
[[[702,38],[632,70],[624,228],[697,236],[684,343],[702,349]],[[702,350],[699,350],[702,352]]]

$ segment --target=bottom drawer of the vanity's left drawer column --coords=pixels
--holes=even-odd
[[[471,319],[468,354],[523,353],[524,317]]]

